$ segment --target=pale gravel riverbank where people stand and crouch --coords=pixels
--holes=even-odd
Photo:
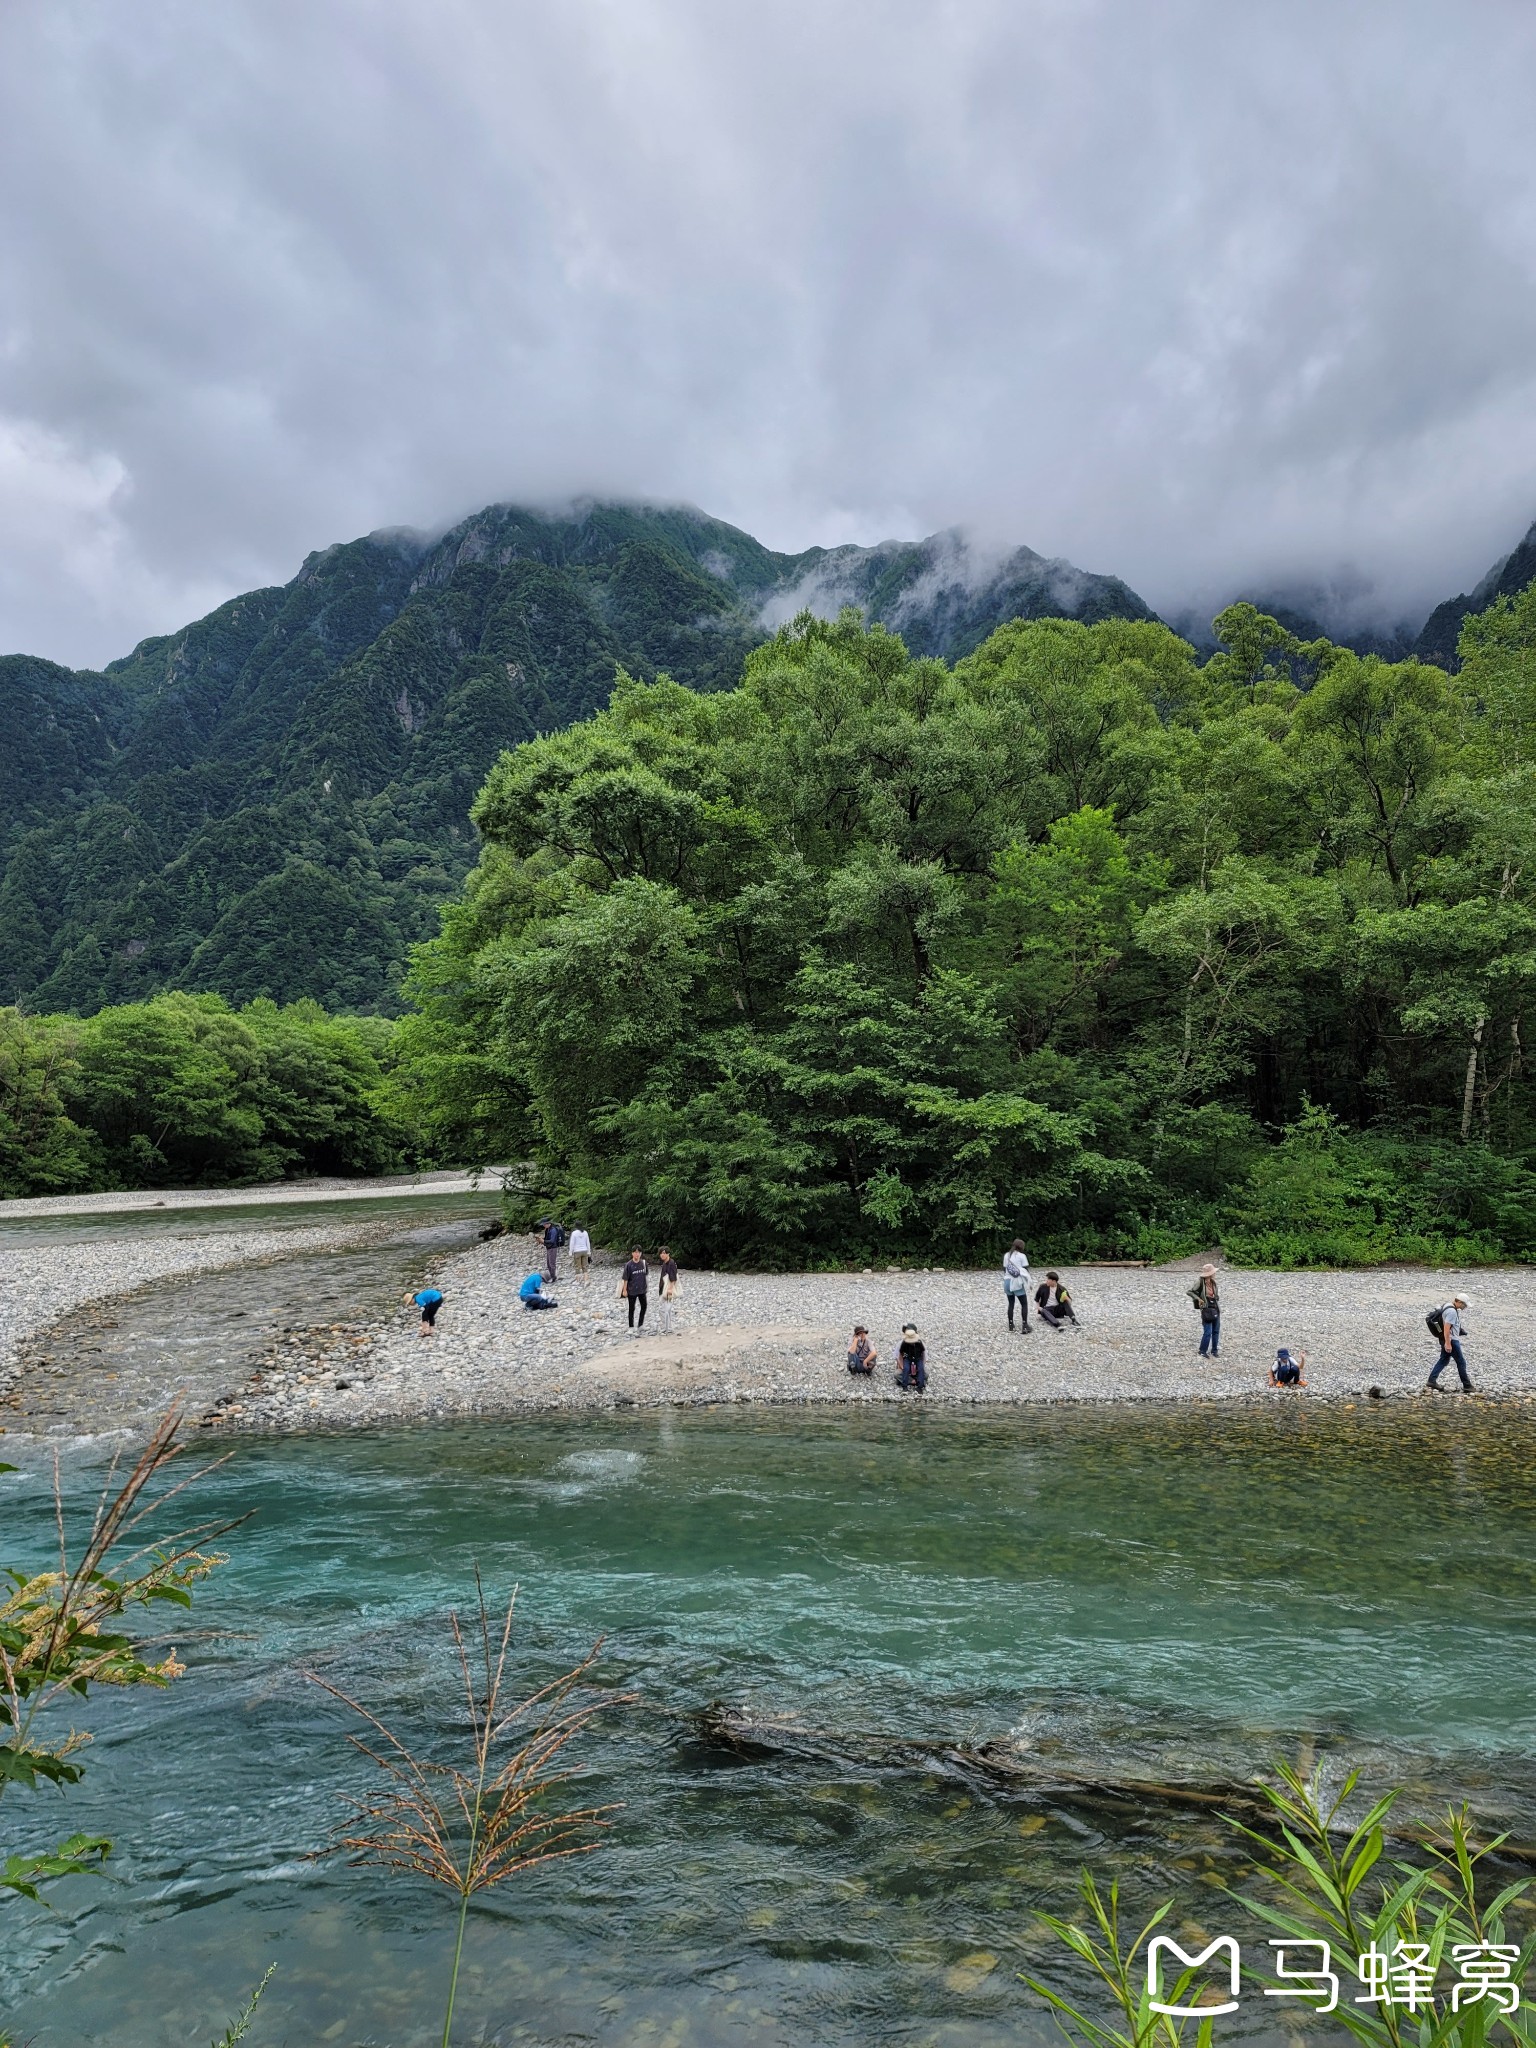
[[[1223,1272],[1223,1350],[1200,1360],[1200,1323],[1184,1270],[1065,1272],[1079,1329],[1010,1335],[995,1272],[684,1274],[678,1331],[631,1335],[616,1266],[561,1280],[559,1309],[530,1315],[518,1282],[537,1264],[526,1239],[502,1237],[436,1262],[446,1300],[436,1335],[416,1311],[360,1341],[346,1325],[291,1331],[221,1403],[213,1425],[336,1427],[455,1413],[590,1409],[668,1401],[909,1401],[889,1360],[903,1321],[928,1341],[928,1403],[1292,1399],[1266,1386],[1276,1346],[1309,1354],[1313,1397],[1419,1393],[1432,1362],[1425,1309],[1460,1290],[1468,1360],[1481,1393],[1536,1395],[1530,1331],[1536,1276],[1524,1268],[1458,1274]],[[881,1352],[872,1380],[852,1380],[854,1321]],[[1442,1380],[1442,1386],[1446,1380]],[[1454,1368],[1450,1372],[1456,1386]],[[1448,1399],[1448,1395],[1446,1395]]]

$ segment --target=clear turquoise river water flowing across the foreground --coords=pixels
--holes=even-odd
[[[274,1960],[252,2042],[436,2040],[446,1898],[307,1860],[360,1767],[301,1669],[442,1739],[479,1561],[522,1583],[530,1681],[602,1632],[604,1683],[641,1698],[586,1751],[625,1800],[606,1845],[477,1913],[461,2040],[1044,2040],[1016,1970],[1081,1862],[1241,1933],[1208,1882],[1235,1851],[1200,1815],[999,1792],[903,1743],[1012,1735],[1110,1782],[1321,1753],[1536,1839],[1532,1450],[1524,1411],[1470,1403],[242,1444],[205,1489],[258,1509],[199,1602],[219,1634],[168,1698],[94,1706],[51,1812],[111,1825],[115,1880],[27,1913],[4,2011],[39,2044],[201,2042]],[[37,1481],[0,1485],[6,1532],[45,1542]],[[713,1700],[813,1737],[733,1755]]]

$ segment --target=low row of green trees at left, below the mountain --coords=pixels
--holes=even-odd
[[[84,1022],[0,1010],[0,1196],[387,1171],[406,1143],[391,1030],[219,995]]]

